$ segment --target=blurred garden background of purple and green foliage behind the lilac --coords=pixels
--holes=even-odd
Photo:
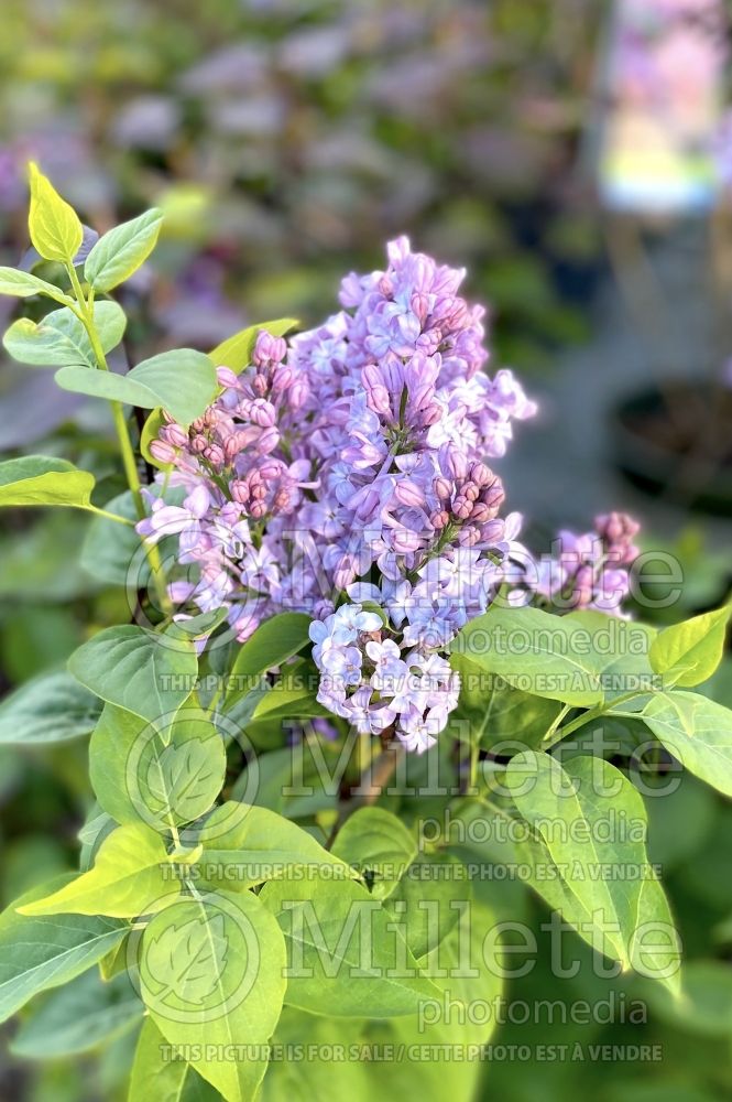
[[[679,4],[647,6],[648,33],[663,40]],[[645,545],[675,555],[685,576],[679,602],[643,615],[713,607],[732,583],[724,128],[721,115],[711,119],[722,142],[713,194],[673,210],[609,208],[598,171],[618,94],[612,28],[602,0],[3,0],[0,262],[26,253],[31,156],[98,230],[162,206],[160,248],[123,292],[136,360],[175,345],[208,349],[267,317],[314,324],[336,309],[345,272],[380,267],[384,241],[406,233],[468,268],[470,298],[490,304],[494,365],[514,367],[540,401],[501,468],[535,544],[557,526],[586,530],[594,512],[626,508]],[[710,33],[721,107],[725,26]],[[626,45],[621,98],[659,98],[666,111],[658,74],[634,39]],[[707,87],[708,58],[681,50],[671,65],[687,80],[684,101],[695,64]],[[695,132],[695,158],[700,142]],[[0,301],[3,327],[17,314]],[[0,450],[66,455],[95,471],[105,499],[122,488],[105,412],[7,357]],[[79,565],[84,518],[3,510],[0,522],[6,691],[63,662],[95,626],[128,617],[124,595]],[[709,691],[732,705],[729,659]],[[74,867],[89,803],[86,743],[0,745],[3,905]],[[655,803],[652,856],[686,943],[688,1001],[675,1008],[649,996],[645,1025],[506,1025],[494,1042],[654,1042],[663,1059],[506,1055],[484,1068],[487,1100],[731,1096],[732,811],[690,777]],[[510,884],[492,893],[506,917],[545,917]],[[569,1003],[601,991],[589,968],[557,981],[545,964],[512,994]],[[122,1099],[134,1041],[128,1030],[101,1054],[33,1066],[3,1044],[0,1099]]]

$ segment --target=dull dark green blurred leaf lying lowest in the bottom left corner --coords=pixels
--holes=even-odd
[[[142,1003],[125,973],[103,983],[85,972],[33,1005],[11,1042],[14,1056],[54,1060],[88,1052],[142,1020]]]

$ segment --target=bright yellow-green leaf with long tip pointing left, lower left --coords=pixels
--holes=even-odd
[[[109,915],[138,918],[168,906],[181,894],[160,834],[144,823],[118,827],[105,839],[94,867],[21,915]]]

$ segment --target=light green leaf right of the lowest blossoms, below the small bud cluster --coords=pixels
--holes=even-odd
[[[592,633],[565,616],[493,607],[461,629],[451,651],[533,695],[578,707],[604,698],[604,659],[593,647]]]

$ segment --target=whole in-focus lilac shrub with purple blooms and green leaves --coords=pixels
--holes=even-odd
[[[109,402],[129,487],[102,507],[90,471],[23,454],[0,463],[0,507],[90,514],[86,569],[133,598],[130,622],[0,705],[4,745],[91,735],[96,801],[78,875],[0,916],[0,1022],[47,993],[17,1034],[28,1045],[43,1017],[74,1018],[81,979],[96,1040],[111,1040],[121,983],[141,1027],[130,1102],[163,1080],[278,1100],[294,1072],[317,1094],[307,1059],[270,1060],[293,1029],[305,1051],[379,1037],[441,1054],[449,1038],[455,1059],[400,1056],[398,1082],[408,1071],[425,1099],[469,1102],[496,1022],[469,1011],[505,974],[505,923],[482,889],[516,862],[598,957],[679,995],[638,788],[655,771],[655,795],[677,760],[732,795],[732,712],[689,691],[721,661],[730,605],[663,630],[623,623],[637,525],[619,514],[529,555],[492,468],[536,407],[510,371],[483,370],[463,272],[405,239],[384,271],[349,276],[341,311],[310,333],[287,342],[293,323],[269,322],[209,355],[110,370],[127,322],[110,292],[161,223],[146,212],[88,249],[32,166],[30,237],[56,282],[0,268],[0,293],[40,314],[18,317],[6,348]],[[132,409],[148,411],[140,432]],[[463,847],[451,821],[498,842],[507,823],[511,845]],[[106,982],[81,975],[97,964]],[[423,1013],[443,1004],[459,1033]],[[72,1030],[54,1052],[78,1044]],[[383,1092],[389,1065],[357,1059],[328,1058],[334,1091],[352,1093],[358,1071],[359,1096]]]

